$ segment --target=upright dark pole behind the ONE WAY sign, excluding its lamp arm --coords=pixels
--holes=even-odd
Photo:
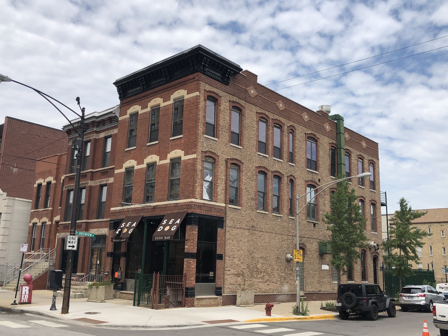
[[[79,97],[76,98],[79,103]],[[81,108],[81,106],[79,107]],[[72,218],[70,223],[70,236],[74,236],[76,233],[76,218],[78,215],[78,203],[79,203],[79,181],[81,180],[81,159],[82,159],[82,146],[84,145],[84,113],[85,108],[81,108],[81,120],[79,121],[79,139],[72,139],[72,149],[76,150],[76,175],[75,175],[75,187],[73,190],[73,205],[72,205]],[[65,246],[61,246],[65,248]],[[65,270],[65,283],[64,283],[64,297],[62,298],[61,314],[69,313],[70,306],[70,289],[72,284],[72,263],[73,263],[73,250],[67,251],[67,268]]]

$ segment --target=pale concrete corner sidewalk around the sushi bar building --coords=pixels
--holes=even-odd
[[[132,301],[113,299],[105,303],[86,302],[83,299],[70,299],[69,314],[60,314],[62,297],[56,298],[56,311],[50,311],[52,291],[33,291],[32,304],[11,306],[15,292],[0,290],[0,308],[12,309],[30,314],[69,319],[101,327],[113,328],[173,328],[199,327],[232,322],[278,322],[300,319],[334,319],[334,313],[320,310],[319,302],[309,302],[310,314],[292,314],[295,303],[276,304],[267,317],[264,305],[252,307],[220,306],[207,308],[171,308],[153,310],[132,306]],[[89,314],[94,313],[94,314]]]

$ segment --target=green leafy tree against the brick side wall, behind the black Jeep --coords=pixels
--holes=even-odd
[[[339,175],[338,179],[344,177]],[[349,190],[348,181],[339,181],[336,186],[331,200],[332,211],[323,216],[323,222],[330,231],[330,240],[326,243],[331,247],[330,262],[337,270],[339,288],[341,272],[347,274],[347,269],[358,263],[361,259],[359,249],[366,246],[367,238],[364,233],[366,219],[361,214],[355,190]]]

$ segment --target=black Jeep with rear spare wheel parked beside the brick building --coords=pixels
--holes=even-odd
[[[387,311],[389,317],[395,317],[394,302],[395,299],[385,295],[377,284],[341,284],[336,309],[343,320],[349,319],[350,313],[354,313],[375,321],[382,311]]]

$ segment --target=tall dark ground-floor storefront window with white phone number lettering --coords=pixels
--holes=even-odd
[[[196,282],[215,282],[217,220],[199,218],[196,250]]]

